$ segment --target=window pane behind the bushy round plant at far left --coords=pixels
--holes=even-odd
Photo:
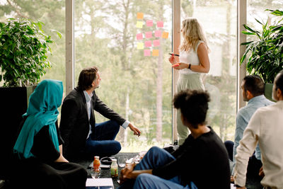
[[[28,18],[44,23],[42,30],[50,35],[54,43],[50,45],[52,55],[48,55],[51,69],[46,69],[42,79],[57,79],[65,81],[65,1],[61,0],[21,0],[0,1],[0,21],[6,18]],[[62,33],[60,39],[57,32]]]

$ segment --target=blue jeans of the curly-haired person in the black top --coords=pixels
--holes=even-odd
[[[151,147],[149,151],[145,154],[144,158],[137,164],[134,170],[145,170],[161,167],[175,159],[168,151],[160,149],[158,147]],[[120,185],[119,189],[122,188],[187,188],[187,189],[197,189],[194,183],[190,185],[181,185],[182,181],[180,176],[175,176],[169,180],[154,176],[151,174],[143,173],[140,174],[137,179],[125,181]]]

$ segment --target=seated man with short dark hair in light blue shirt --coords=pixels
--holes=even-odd
[[[265,98],[265,83],[259,76],[250,75],[243,78],[242,84],[243,101],[247,101],[248,104],[238,111],[236,118],[236,131],[235,131],[235,143],[233,145],[233,151],[229,151],[229,154],[233,153],[233,159],[237,154],[236,148],[239,145],[240,140],[243,138],[243,131],[246,129],[250,118],[258,108],[274,104],[272,101]],[[226,144],[228,142],[225,142]],[[233,161],[233,160],[232,160]],[[260,167],[262,166],[260,157],[260,147],[255,148],[255,154],[250,157],[248,163],[248,173],[246,185],[251,188],[262,188],[260,181],[262,177],[258,175]],[[232,171],[233,181],[233,171]]]

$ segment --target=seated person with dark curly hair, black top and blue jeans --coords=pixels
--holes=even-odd
[[[207,92],[180,91],[173,103],[191,134],[173,154],[152,147],[139,164],[126,166],[120,174],[120,189],[230,188],[227,151],[214,130],[205,124],[208,102]]]

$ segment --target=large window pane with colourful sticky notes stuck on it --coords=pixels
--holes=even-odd
[[[138,138],[121,127],[122,151],[171,143],[171,3],[75,1],[75,81],[81,69],[97,66],[98,97],[141,130]],[[95,114],[96,122],[107,120]]]

